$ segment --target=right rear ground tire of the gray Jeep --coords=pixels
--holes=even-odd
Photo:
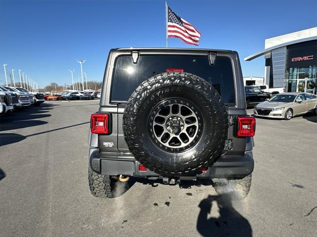
[[[232,199],[241,200],[248,196],[252,182],[252,174],[239,180],[217,179],[213,187],[218,195],[229,195]]]

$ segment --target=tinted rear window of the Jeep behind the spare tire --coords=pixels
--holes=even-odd
[[[214,65],[203,56],[139,56],[133,63],[131,56],[116,59],[112,79],[111,102],[127,101],[132,92],[146,79],[166,72],[168,68],[183,69],[208,81],[226,104],[234,104],[234,81],[229,58],[217,57]]]

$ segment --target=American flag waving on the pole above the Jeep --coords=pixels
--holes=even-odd
[[[167,37],[179,38],[186,44],[198,46],[201,35],[192,24],[180,18],[167,7]]]

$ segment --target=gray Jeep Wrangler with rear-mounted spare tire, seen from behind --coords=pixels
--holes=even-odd
[[[121,195],[130,177],[169,185],[208,179],[217,193],[245,198],[254,135],[237,52],[111,49],[91,115],[91,193]]]

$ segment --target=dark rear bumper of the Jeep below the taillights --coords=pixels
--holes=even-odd
[[[147,169],[139,171],[139,162],[130,153],[100,153],[98,149],[90,150],[90,167],[102,175],[130,175],[134,177],[160,177],[159,174]],[[206,170],[198,174],[201,179],[245,177],[253,172],[254,160],[252,151],[244,155],[222,155]]]

